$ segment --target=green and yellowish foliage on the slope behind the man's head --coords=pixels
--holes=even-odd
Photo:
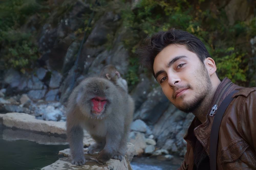
[[[227,76],[240,85],[250,80],[246,61],[251,57],[248,47],[256,32],[255,18],[230,25],[223,8],[212,8],[211,1],[204,0],[141,0],[133,10],[126,5],[122,18],[127,32],[124,44],[131,54],[147,36],[170,28],[181,29],[205,44],[217,63],[220,78]]]

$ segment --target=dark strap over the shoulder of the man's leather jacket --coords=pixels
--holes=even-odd
[[[228,107],[228,105],[231,103],[231,101],[234,99],[232,98],[234,93],[237,93],[239,90],[232,91],[220,104],[220,107],[217,109],[214,120],[211,127],[211,134],[210,134],[210,168],[211,170],[216,170],[217,166],[217,146],[218,146],[218,139],[219,139],[219,130],[220,130],[220,124],[222,117]]]

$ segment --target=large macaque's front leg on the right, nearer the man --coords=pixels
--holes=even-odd
[[[118,129],[108,130],[106,135],[106,145],[97,157],[99,162],[106,162],[117,153],[121,142],[121,134],[122,132]]]

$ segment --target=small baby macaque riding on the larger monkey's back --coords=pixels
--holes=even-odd
[[[121,87],[126,93],[128,93],[127,82],[120,76],[120,73],[115,69],[114,65],[109,64],[103,67],[100,72],[100,76],[109,79],[116,86]]]

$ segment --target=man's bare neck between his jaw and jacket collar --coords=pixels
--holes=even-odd
[[[221,83],[219,78],[217,80],[212,80],[212,90],[205,96],[204,100],[200,103],[200,105],[197,107],[195,111],[193,111],[193,114],[197,117],[197,119],[204,123],[206,121],[206,116],[208,113],[209,108],[211,107],[211,101],[214,97],[214,94]]]

